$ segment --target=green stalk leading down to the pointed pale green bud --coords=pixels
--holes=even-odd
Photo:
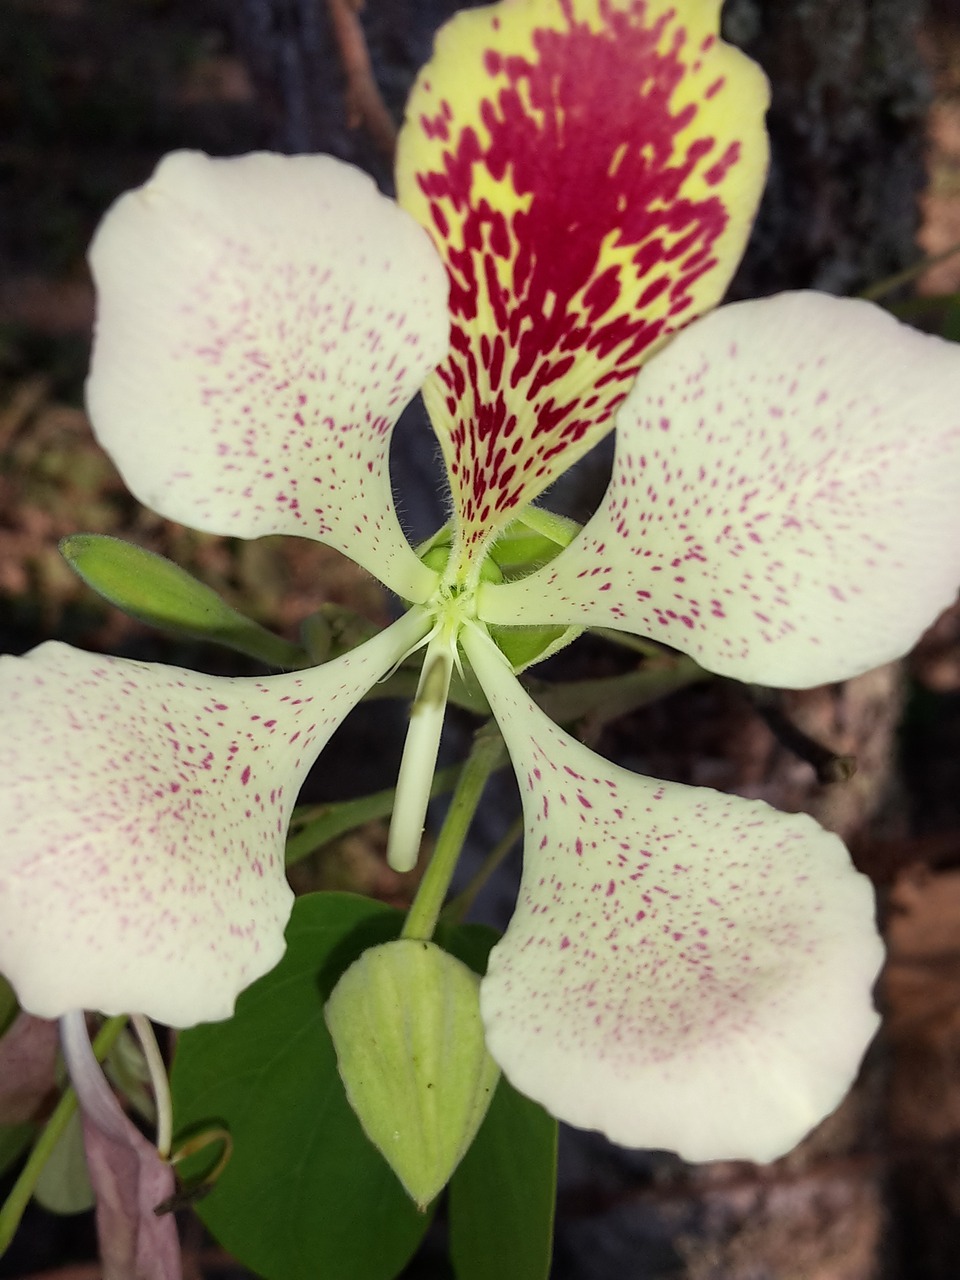
[[[436,837],[433,858],[420,882],[401,937],[428,941],[433,937],[480,796],[490,774],[506,760],[503,740],[493,727],[485,724],[474,739],[474,746],[463,764],[451,806]]]

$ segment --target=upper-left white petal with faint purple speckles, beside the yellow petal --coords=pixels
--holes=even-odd
[[[168,156],[91,248],[87,398],[133,493],[210,532],[301,534],[408,599],[388,452],[448,348],[428,237],[328,156]]]

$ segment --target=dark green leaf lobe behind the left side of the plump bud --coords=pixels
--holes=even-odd
[[[339,975],[402,919],[348,893],[298,899],[280,964],[232,1019],[180,1037],[178,1130],[219,1123],[233,1138],[200,1216],[268,1280],[393,1280],[426,1230],[347,1102],[324,1021]]]

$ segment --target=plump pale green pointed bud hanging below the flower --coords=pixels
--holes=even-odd
[[[447,1185],[486,1115],[480,979],[433,942],[371,947],[326,1002],[326,1025],[364,1132],[420,1208]]]

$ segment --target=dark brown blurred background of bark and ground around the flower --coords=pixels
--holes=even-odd
[[[296,635],[320,604],[374,622],[390,603],[334,552],[297,539],[210,538],[143,511],[83,413],[93,298],[84,266],[110,201],[178,147],[229,155],[326,151],[389,189],[392,131],[453,0],[0,0],[0,650],[51,636],[218,672],[242,659],[147,631],[99,602],[58,539],[110,532],[169,556],[259,621]],[[878,288],[900,314],[960,337],[960,5],[941,0],[728,0],[727,38],[773,82],[773,168],[737,297]],[[269,198],[269,192],[264,193]],[[920,425],[918,424],[918,428]],[[443,518],[419,408],[397,433],[402,513]],[[603,462],[566,500],[588,513]],[[891,602],[896,608],[896,602]],[[567,675],[635,659],[596,640]],[[841,1111],[769,1167],[684,1166],[562,1138],[559,1280],[955,1280],[960,1275],[960,611],[906,662],[845,686],[783,695],[776,712],[832,751],[809,763],[736,686],[673,695],[591,736],[643,772],[808,809],[878,888],[891,959],[884,1029]],[[0,708],[0,714],[3,709]],[[774,717],[776,718],[776,717]],[[378,705],[342,731],[339,772],[308,795],[392,785],[403,730]],[[585,730],[590,732],[589,726]],[[456,736],[456,735],[454,735]],[[339,740],[338,740],[339,741]],[[497,791],[490,829],[515,804]],[[484,836],[481,833],[480,842]],[[403,901],[371,826],[324,851],[302,887],[349,884]],[[517,864],[485,904],[508,910]],[[512,878],[511,878],[512,877]],[[499,923],[504,923],[506,916]],[[9,1181],[9,1175],[6,1175]],[[3,1189],[3,1188],[0,1188]],[[188,1276],[244,1272],[184,1222]],[[442,1242],[411,1276],[443,1276]],[[97,1276],[90,1215],[36,1211],[0,1276]]]

